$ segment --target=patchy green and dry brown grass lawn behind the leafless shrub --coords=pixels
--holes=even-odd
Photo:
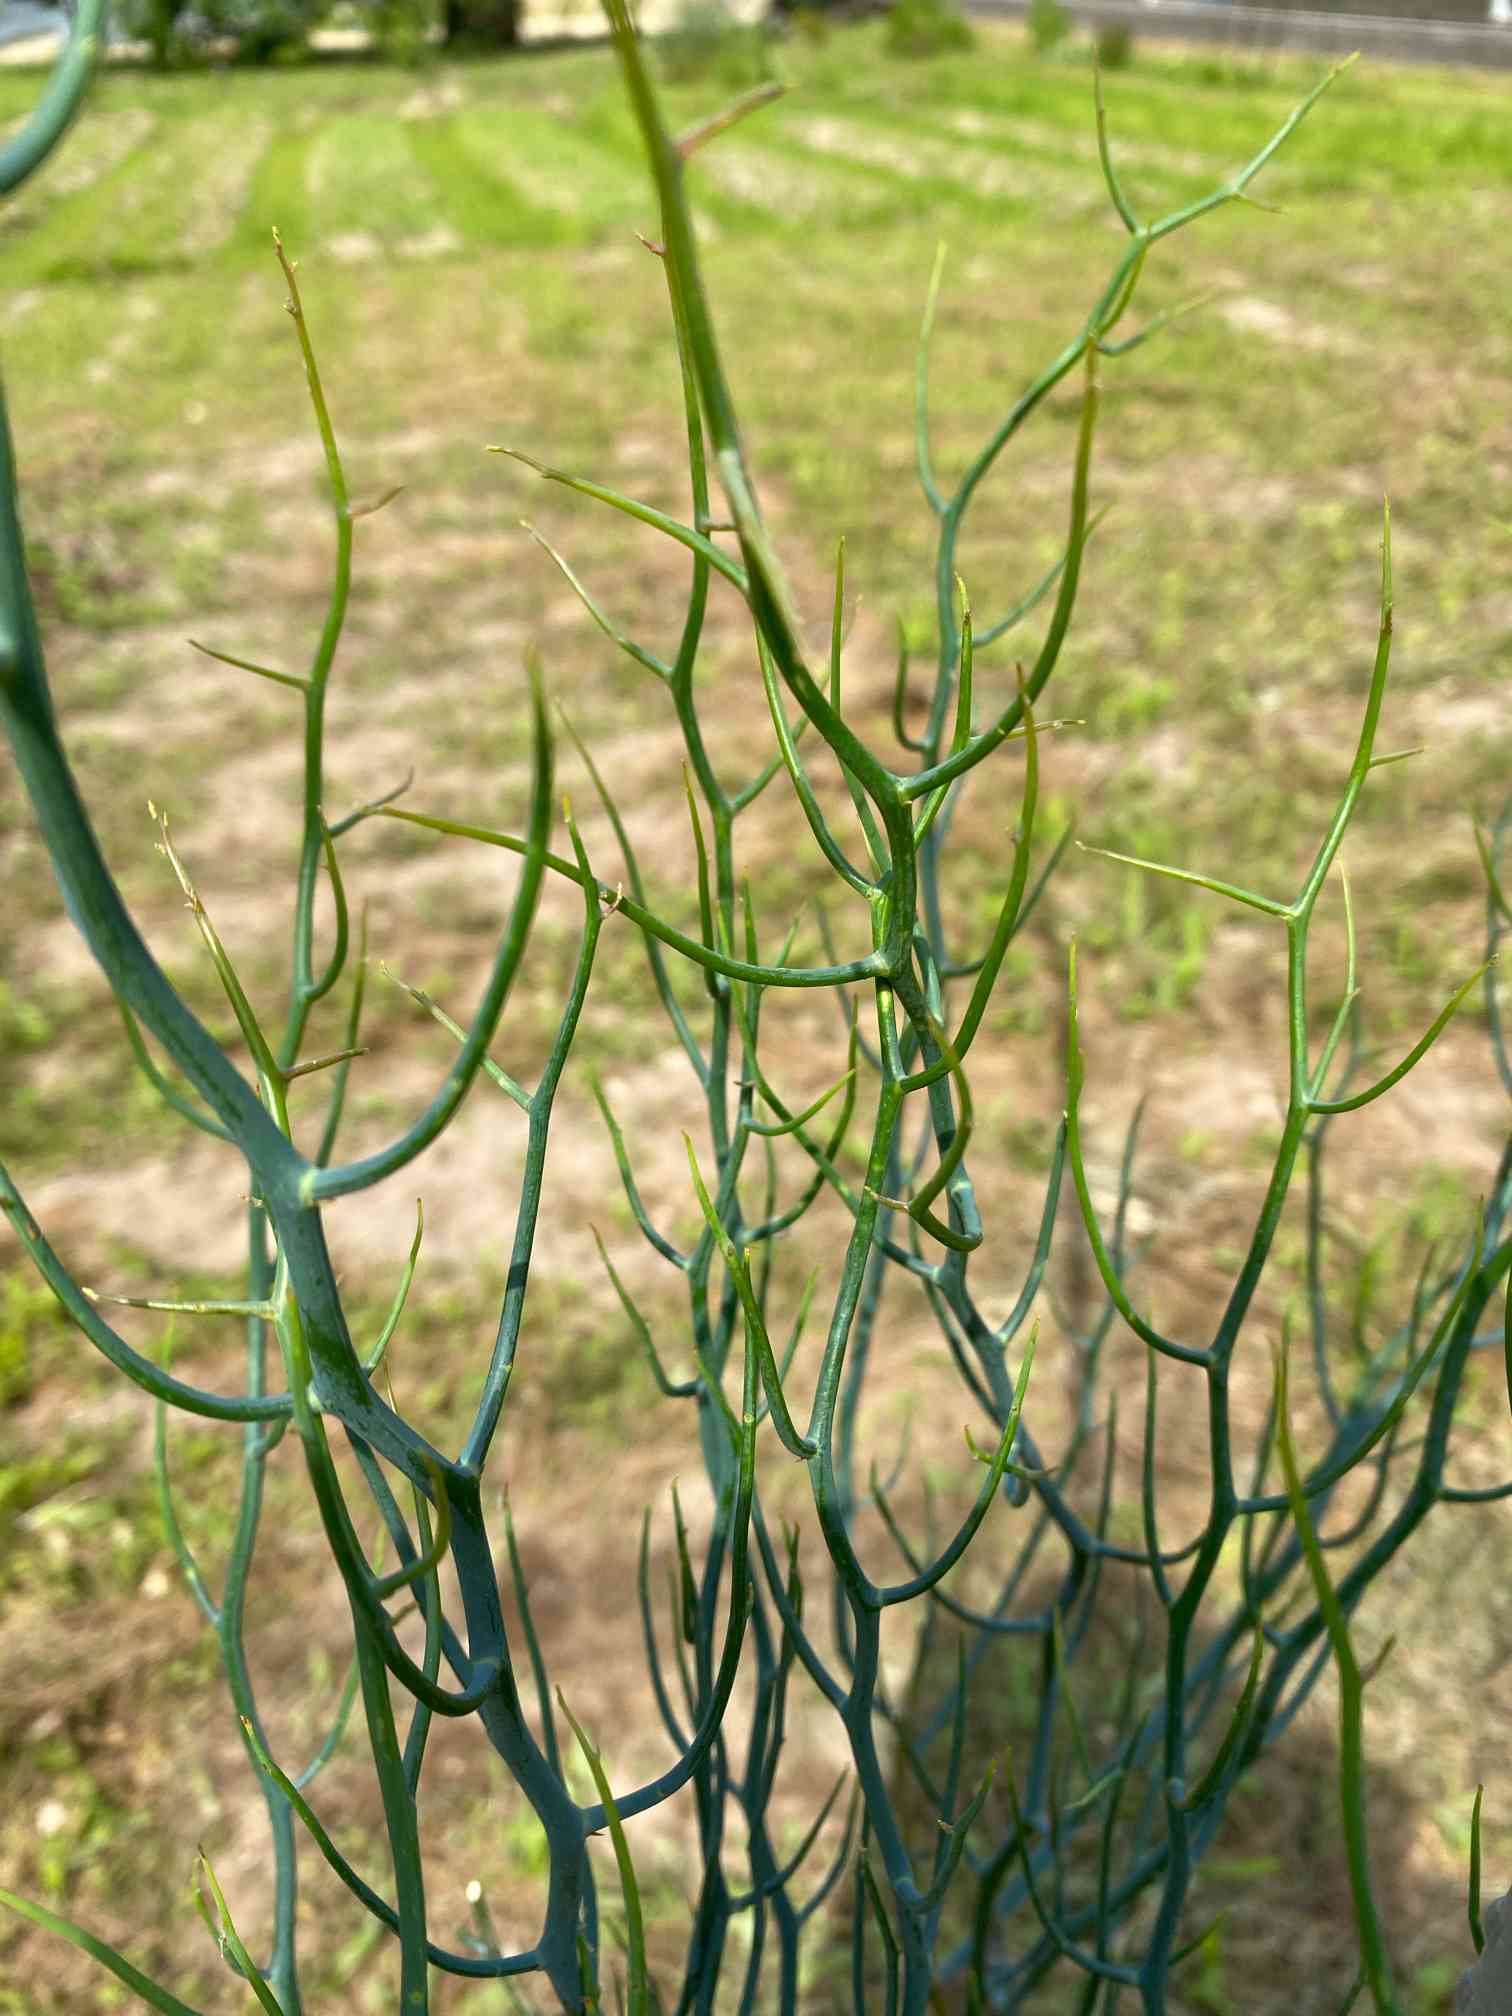
[[[927,647],[933,621],[911,397],[935,246],[948,244],[948,262],[933,437],[950,474],[1075,333],[1119,224],[1099,179],[1081,50],[1034,60],[1016,32],[984,30],[972,54],[909,65],[861,26],[794,40],[780,62],[788,97],[700,157],[704,252],[764,496],[816,635],[833,540],[847,538],[859,591],[847,677],[881,742],[893,623]],[[1226,177],[1314,75],[1290,58],[1244,69],[1141,48],[1107,81],[1137,208],[1173,208]],[[0,121],[36,89],[36,77],[0,73]],[[675,89],[689,119],[726,95],[718,79]],[[1081,726],[1046,746],[1046,790],[1052,816],[1075,814],[1091,843],[1288,893],[1353,748],[1389,494],[1397,645],[1381,746],[1423,752],[1373,778],[1349,863],[1371,1040],[1397,1054],[1480,958],[1470,814],[1500,808],[1512,756],[1512,81],[1363,65],[1256,194],[1286,214],[1232,206],[1157,248],[1145,308],[1193,296],[1206,306],[1109,365],[1095,502],[1111,514],[1054,687],[1056,712]],[[403,484],[359,526],[333,698],[333,810],[413,770],[415,806],[514,827],[526,792],[522,665],[534,645],[552,696],[619,780],[663,905],[691,915],[679,738],[663,696],[589,625],[518,520],[554,540],[615,621],[657,649],[681,617],[677,556],[484,454],[516,446],[685,510],[665,294],[635,236],[651,234],[655,216],[607,54],[115,73],[50,171],[0,216],[0,349],[65,738],[159,958],[222,1028],[147,798],[171,812],[258,998],[278,998],[286,962],[298,804],[286,694],[185,643],[298,669],[323,617],[321,452],[270,226],[300,260],[353,494]],[[982,498],[962,571],[986,621],[1058,550],[1075,417],[1075,401],[1052,399]],[[716,611],[708,637],[716,754],[744,754],[768,734],[760,683],[732,611]],[[988,702],[1012,689],[1004,653],[984,657],[982,681]],[[609,861],[613,843],[587,810],[587,778],[566,748],[560,774],[595,859]],[[1012,816],[966,802],[964,877],[952,891],[964,931],[980,935],[992,915]],[[790,839],[778,821],[754,841],[772,915],[814,889]],[[240,1165],[163,1119],[135,1077],[8,768],[0,851],[0,1153],[93,1284],[137,1294],[228,1284]],[[383,823],[353,837],[347,875],[369,903],[375,956],[464,1014],[510,875],[492,857]],[[1274,1145],[1280,931],[1075,853],[1042,915],[1032,950],[1014,954],[980,1062],[1004,1210],[1032,1193],[1062,1103],[1060,988],[1075,929],[1097,1155],[1105,1173],[1117,1167],[1123,1123],[1147,1089],[1139,1204],[1161,1234],[1151,1294],[1167,1327],[1195,1329],[1222,1306]],[[1343,974],[1343,933],[1333,935],[1322,996]],[[512,1070],[540,1056],[571,956],[571,907],[548,905],[506,1024]],[[625,937],[605,962],[581,1060],[609,1083],[643,1157],[647,1202],[687,1228],[694,1200],[671,1125],[687,1093],[645,1002]],[[367,1040],[355,1127],[379,1139],[427,1097],[448,1050],[381,980]],[[814,1087],[841,1068],[829,1016],[794,1016],[790,1040],[794,1073]],[[520,1149],[496,1119],[480,1095],[419,1171],[429,1230],[395,1381],[444,1443],[486,1361],[512,1230]],[[1335,1286],[1355,1296],[1365,1335],[1399,1314],[1421,1242],[1468,1230],[1502,1135],[1478,1002],[1419,1075],[1337,1131]],[[554,1218],[532,1284],[534,1357],[510,1403],[502,1472],[544,1591],[554,1677],[611,1768],[633,1776],[665,1758],[655,1732],[625,1716],[641,1655],[615,1574],[631,1572],[641,1504],[665,1504],[667,1480],[698,1460],[683,1417],[647,1397],[593,1258],[585,1212],[615,1230],[617,1250],[633,1248],[579,1066],[556,1141]],[[331,1216],[353,1300],[379,1320],[409,1242],[413,1187],[399,1181]],[[825,1252],[823,1230],[816,1222],[812,1258]],[[1371,1242],[1383,1242],[1373,1272],[1361,1266]],[[1068,1228],[1056,1262],[1060,1306],[1073,1312],[1089,1294],[1075,1244]],[[806,1252],[798,1244],[794,1264]],[[1256,1325],[1250,1399],[1264,1393],[1300,1252],[1288,1220]],[[0,1246],[0,1883],[123,1943],[181,1996],[230,2010],[240,2004],[181,1879],[204,1841],[256,1945],[266,1835],[214,1647],[161,1540],[149,1409],[85,1357],[14,1250]],[[1006,1242],[984,1258],[990,1280],[1022,1270]],[[647,1308],[671,1322],[675,1302],[649,1256],[633,1266]],[[1046,1314],[1046,1349],[1052,1335]],[[206,1379],[232,1377],[214,1339],[194,1339],[192,1355]],[[921,1391],[937,1377],[925,1365]],[[950,1393],[948,1413],[925,1415],[915,1450],[921,1468],[939,1466],[941,1488],[960,1490],[958,1399],[948,1385],[937,1391]],[[1131,1423],[1137,1411],[1127,1409]],[[1466,1421],[1458,1482],[1496,1482],[1512,1452],[1490,1365]],[[879,1401],[877,1447],[893,1450],[897,1429],[897,1407]],[[173,1433],[185,1520],[210,1562],[226,1544],[216,1494],[230,1439]],[[1137,1484],[1137,1427],[1127,1439]],[[1179,1540],[1200,1466],[1177,1433],[1163,1464],[1169,1538]],[[268,1702],[284,1704],[280,1742],[294,1750],[319,1742],[341,1683],[343,1613],[292,1464],[274,1470],[272,1492],[254,1649]],[[1478,1778],[1490,1786],[1488,1895],[1512,1877],[1506,1536],[1504,1506],[1441,1510],[1361,1617],[1365,1653],[1397,1633],[1367,1726],[1381,1895],[1413,2016],[1450,2008],[1468,1960],[1464,1863]],[[869,1542],[885,1548],[879,1534]],[[907,1651],[899,1657],[905,1677]],[[1181,2012],[1327,2016],[1349,1984],[1331,1699],[1325,1689],[1298,1724],[1292,1762],[1282,1758],[1264,1792],[1236,1808],[1234,1839],[1200,1893],[1208,1915],[1232,1903],[1232,1925],[1187,1976]],[[800,1758],[829,1760],[804,1750],[821,1746],[818,1728],[794,1722]],[[452,1905],[462,1919],[462,1885],[482,1873],[506,1935],[530,1937],[540,1843],[502,1776],[454,1736],[437,1736],[437,1802],[425,1812],[437,1925],[450,1929]],[[363,1770],[333,1766],[323,1798],[333,1831],[377,1867]],[[637,1835],[665,1921],[679,1909],[685,1855],[677,1820]],[[1264,1909],[1246,1905],[1260,1865],[1274,1885]],[[312,1855],[306,1885],[308,2006],[387,2010],[389,1962]],[[113,2006],[81,1956],[0,1923],[0,2016]],[[500,1990],[448,1984],[437,2006],[510,2004]],[[1070,2006],[1064,1996],[1044,2004]],[[814,2016],[825,2008],[816,1986]]]

